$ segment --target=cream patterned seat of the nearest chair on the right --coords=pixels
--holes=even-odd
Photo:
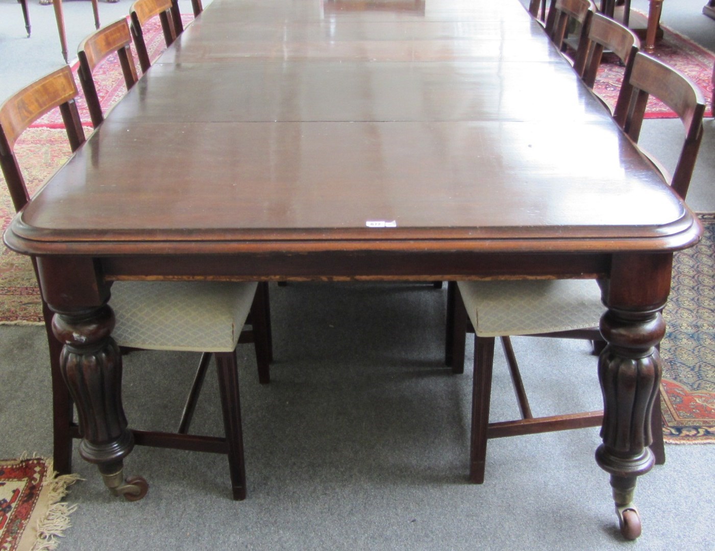
[[[479,337],[598,327],[606,307],[593,279],[458,282]]]

